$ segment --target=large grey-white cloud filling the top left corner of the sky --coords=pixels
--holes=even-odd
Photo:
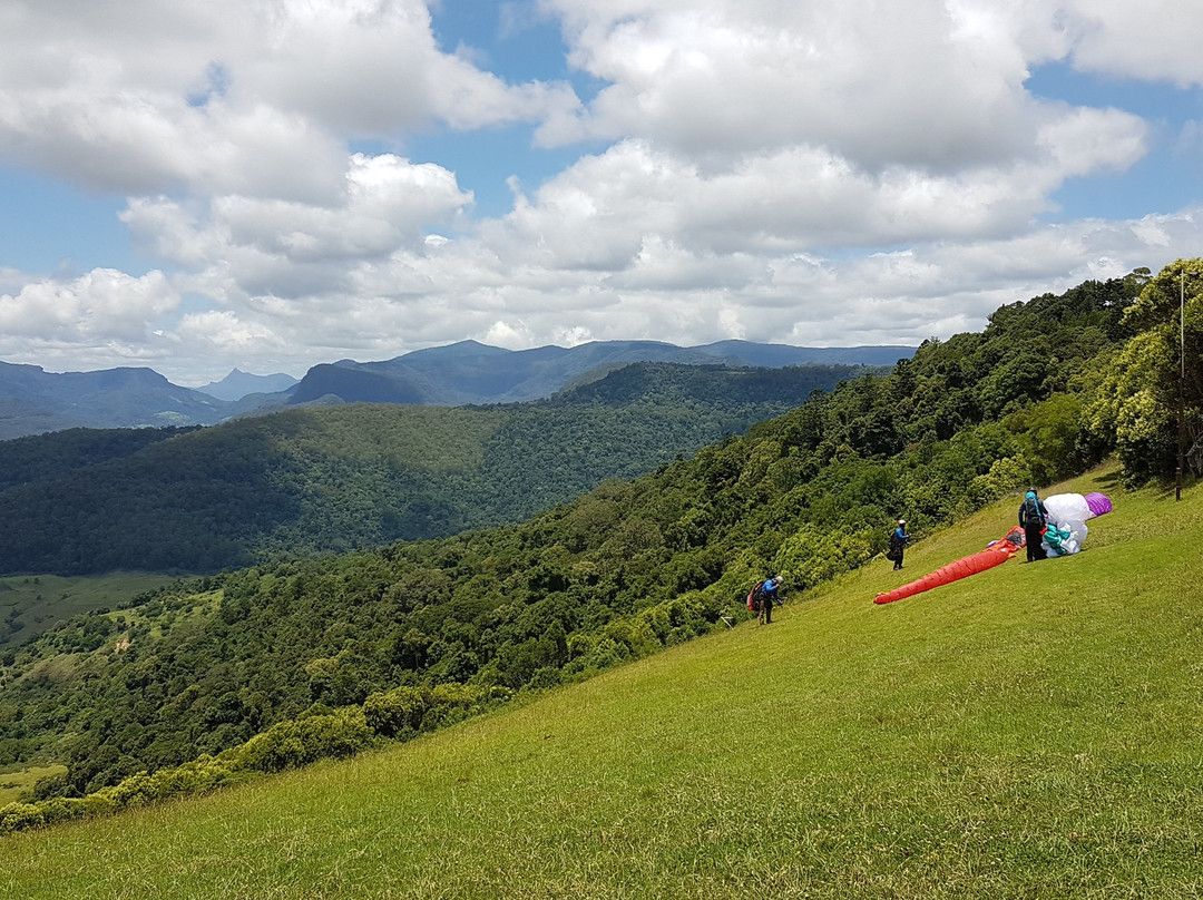
[[[442,52],[420,0],[12,0],[0,160],[128,193],[315,201],[345,141],[571,107]]]

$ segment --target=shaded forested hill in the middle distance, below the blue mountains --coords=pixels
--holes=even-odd
[[[639,363],[546,401],[0,442],[0,573],[213,573],[517,522],[864,372]]]

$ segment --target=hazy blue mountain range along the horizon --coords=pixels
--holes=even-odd
[[[381,362],[339,360],[290,375],[233,369],[192,390],[149,368],[49,373],[0,362],[0,440],[75,427],[217,425],[298,404],[466,405],[550,397],[633,362],[781,368],[804,363],[893,366],[913,347],[813,348],[722,341],[682,348],[656,341],[605,341],[573,348],[505,350],[475,341]]]

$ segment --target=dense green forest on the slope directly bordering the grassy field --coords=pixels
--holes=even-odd
[[[1002,307],[980,333],[521,525],[266,563],[78,616],[0,658],[0,765],[65,763],[40,795],[78,797],[338,709],[411,733],[440,686],[552,686],[724,627],[768,573],[804,602],[881,552],[899,515],[921,537],[1112,452],[1133,482],[1165,476],[1174,454],[1116,431],[1107,403],[1118,379],[1143,378],[1155,409],[1175,396],[1172,367],[1132,371],[1131,353],[1169,325],[1150,306],[1179,270],[1203,286],[1190,261]],[[1203,324],[1199,286],[1189,321]],[[1187,363],[1196,378],[1203,361]],[[1185,397],[1197,433],[1201,398]]]

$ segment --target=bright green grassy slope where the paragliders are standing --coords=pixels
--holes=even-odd
[[[1203,491],[894,604],[1015,503],[778,621],[408,745],[0,839],[23,898],[1203,895]],[[1053,493],[1054,491],[1048,491]]]

